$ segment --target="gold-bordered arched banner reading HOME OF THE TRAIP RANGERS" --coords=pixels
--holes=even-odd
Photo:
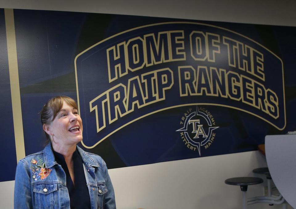
[[[87,148],[146,116],[189,105],[234,108],[278,130],[286,126],[282,60],[218,26],[165,22],[127,30],[78,54],[75,72]]]

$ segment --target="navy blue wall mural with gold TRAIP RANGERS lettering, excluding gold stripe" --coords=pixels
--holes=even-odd
[[[79,146],[108,168],[253,151],[295,130],[295,27],[39,10],[14,10],[14,24],[26,155],[44,147],[38,112],[56,95],[78,101]]]

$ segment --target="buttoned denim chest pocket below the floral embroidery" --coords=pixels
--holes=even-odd
[[[57,189],[57,183],[33,184],[33,201],[35,202],[33,204],[33,207],[36,206],[36,208],[55,208]]]

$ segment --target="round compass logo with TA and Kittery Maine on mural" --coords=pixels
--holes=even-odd
[[[214,126],[215,120],[212,114],[205,108],[199,108],[196,106],[196,111],[192,112],[192,108],[187,110],[185,113],[180,124],[183,124],[183,127],[176,130],[180,132],[181,138],[187,148],[197,151],[200,154],[200,147],[205,146],[207,149],[213,142],[214,137],[216,134],[213,130],[219,128],[219,126]]]

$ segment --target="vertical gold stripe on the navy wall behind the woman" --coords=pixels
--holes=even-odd
[[[14,140],[16,149],[16,159],[19,161],[25,154],[23,119],[21,107],[21,95],[19,90],[19,69],[18,58],[16,54],[16,40],[14,30],[13,9],[4,9],[5,25],[6,25],[6,40],[8,53],[8,66],[11,89],[12,115],[14,126]]]

